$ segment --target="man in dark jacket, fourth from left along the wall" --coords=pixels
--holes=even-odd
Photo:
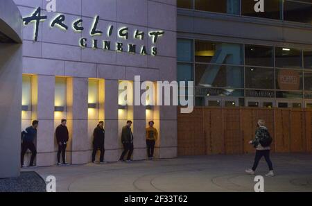
[[[128,153],[127,162],[131,162],[131,156],[133,153],[133,135],[131,131],[132,121],[128,120],[127,125],[123,127],[121,132],[121,142],[123,143],[123,153],[121,154],[120,161],[124,161],[123,158]]]

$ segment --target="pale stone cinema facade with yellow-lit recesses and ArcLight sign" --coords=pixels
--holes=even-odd
[[[102,120],[107,162],[119,160],[128,119],[134,160],[146,159],[150,120],[159,130],[156,157],[177,157],[176,107],[131,105],[133,92],[119,98],[121,81],[132,91],[135,76],[153,83],[176,79],[176,1],[51,2],[15,0],[24,17],[21,126],[40,121],[37,166],[56,164],[54,133],[61,119],[69,128],[71,164],[91,162],[93,130]]]

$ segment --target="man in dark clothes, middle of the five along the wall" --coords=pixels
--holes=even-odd
[[[105,163],[104,162],[104,142],[105,142],[105,130],[104,130],[104,122],[100,121],[98,123],[98,126],[96,126],[96,128],[94,129],[93,132],[93,152],[92,152],[92,162],[95,163],[95,156],[96,156],[96,151],[98,151],[98,149],[101,151],[101,155],[100,155],[100,164],[101,163]]]

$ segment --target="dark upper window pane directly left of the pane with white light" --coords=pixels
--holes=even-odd
[[[245,65],[273,67],[273,47],[245,45]]]

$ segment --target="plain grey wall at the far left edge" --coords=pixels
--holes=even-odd
[[[21,123],[21,14],[13,1],[0,2],[0,178],[19,175]],[[16,108],[18,108],[16,110]]]

